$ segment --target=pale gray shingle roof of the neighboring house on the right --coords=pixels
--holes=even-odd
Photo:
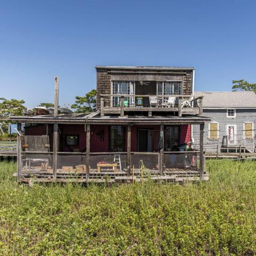
[[[254,92],[195,92],[203,96],[203,108],[256,108]]]

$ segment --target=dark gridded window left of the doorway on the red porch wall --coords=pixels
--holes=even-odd
[[[125,145],[124,126],[111,125],[109,134],[109,149],[112,152],[123,152]]]

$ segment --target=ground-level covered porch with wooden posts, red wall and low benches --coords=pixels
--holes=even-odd
[[[200,124],[203,138],[204,120],[97,113],[79,118],[77,114],[19,117],[18,128],[21,123],[30,125],[18,136],[17,178],[19,182],[207,180],[203,139],[196,151],[190,134],[190,125]]]

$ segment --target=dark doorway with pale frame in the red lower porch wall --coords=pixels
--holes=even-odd
[[[138,129],[137,148],[139,152],[152,151],[152,131],[147,129]]]

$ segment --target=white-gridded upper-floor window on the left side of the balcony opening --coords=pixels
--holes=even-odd
[[[134,94],[134,81],[112,81],[112,94]],[[125,107],[134,103],[134,97],[124,97]],[[121,97],[112,97],[112,106],[118,107],[121,103]]]

